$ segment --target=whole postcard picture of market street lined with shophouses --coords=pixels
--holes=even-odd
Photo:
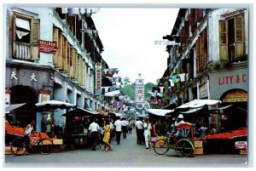
[[[6,166],[247,167],[249,9],[4,10]]]

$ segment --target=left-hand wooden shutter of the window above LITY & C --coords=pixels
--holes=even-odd
[[[219,59],[228,60],[228,32],[226,20],[219,20]]]

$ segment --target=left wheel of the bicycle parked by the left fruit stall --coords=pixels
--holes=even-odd
[[[24,155],[26,152],[26,144],[23,138],[16,138],[10,143],[10,149],[15,156]]]

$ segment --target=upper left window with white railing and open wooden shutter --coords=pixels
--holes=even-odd
[[[13,28],[14,58],[39,60],[40,20],[15,13]]]

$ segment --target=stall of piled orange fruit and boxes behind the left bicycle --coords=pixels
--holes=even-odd
[[[10,154],[9,143],[14,140],[17,136],[23,137],[25,134],[25,128],[19,128],[16,126],[11,126],[8,122],[5,123],[5,154]],[[49,138],[49,135],[46,133],[38,133],[33,131],[30,137],[31,143],[36,143],[37,140],[41,138],[50,139],[55,145],[55,151],[63,144],[62,139]]]

